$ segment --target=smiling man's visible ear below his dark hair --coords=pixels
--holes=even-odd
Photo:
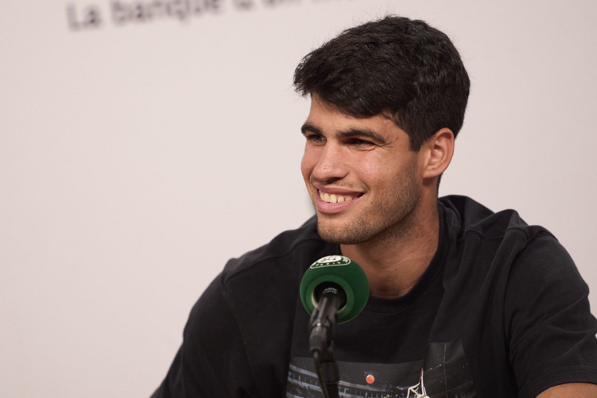
[[[438,177],[448,168],[454,155],[454,133],[449,128],[439,129],[423,144],[423,178]]]

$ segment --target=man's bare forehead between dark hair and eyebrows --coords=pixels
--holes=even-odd
[[[351,129],[367,129],[382,135],[387,141],[394,141],[399,138],[408,140],[408,134],[386,116],[375,115],[357,118],[341,112],[337,107],[325,103],[317,97],[313,97],[311,100],[306,124],[318,127],[326,135]]]

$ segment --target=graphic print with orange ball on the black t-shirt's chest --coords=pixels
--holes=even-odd
[[[460,340],[431,343],[427,357],[407,363],[337,361],[341,397],[369,398],[472,398],[475,386]],[[286,384],[288,398],[320,398],[321,388],[312,358],[290,361]]]

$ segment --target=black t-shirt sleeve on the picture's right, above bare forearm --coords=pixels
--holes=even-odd
[[[562,245],[540,233],[513,262],[504,316],[519,397],[553,385],[597,384],[597,320],[589,287]]]

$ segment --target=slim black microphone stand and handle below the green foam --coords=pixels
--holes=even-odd
[[[338,294],[324,292],[309,320],[309,351],[315,362],[315,370],[324,398],[339,398],[340,372],[338,364],[334,361],[332,336],[338,321],[340,303],[341,297]]]

